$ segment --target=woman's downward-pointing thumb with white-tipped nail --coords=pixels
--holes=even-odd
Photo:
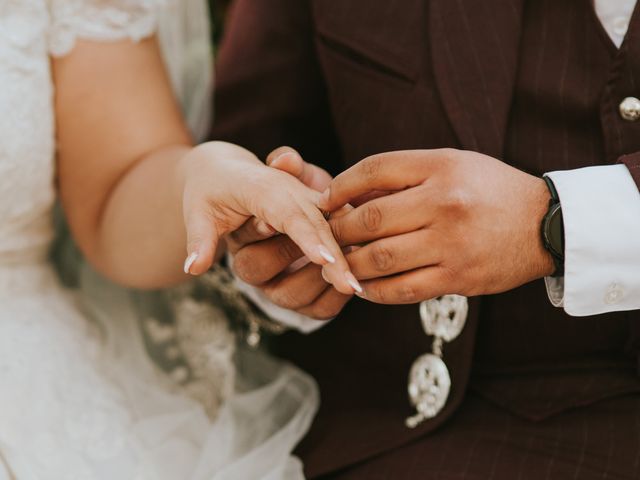
[[[218,247],[215,221],[206,203],[185,201],[184,205],[187,231],[184,273],[202,275],[211,268]]]

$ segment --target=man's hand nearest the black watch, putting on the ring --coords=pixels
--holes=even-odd
[[[392,191],[362,203],[372,191]],[[459,150],[367,158],[334,179],[321,208],[360,204],[332,222],[364,296],[415,303],[444,294],[491,294],[553,273],[540,225],[543,180]],[[361,204],[362,203],[362,204]]]

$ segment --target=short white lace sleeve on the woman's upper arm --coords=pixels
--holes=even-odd
[[[152,35],[163,9],[176,0],[49,0],[49,51],[63,56],[77,38],[139,41]]]

